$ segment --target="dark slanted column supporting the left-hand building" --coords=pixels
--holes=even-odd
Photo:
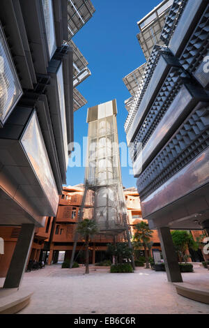
[[[3,288],[18,288],[20,286],[31,251],[34,231],[35,225],[22,225]]]

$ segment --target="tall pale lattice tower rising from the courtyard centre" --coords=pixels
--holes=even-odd
[[[95,191],[94,218],[100,237],[130,238],[121,181],[116,100],[88,108],[88,149],[85,181]]]

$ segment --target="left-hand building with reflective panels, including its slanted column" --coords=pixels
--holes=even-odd
[[[0,254],[1,267],[10,262],[4,288],[19,287],[30,250],[38,257],[66,183],[74,112],[70,15],[67,0],[0,4],[0,237],[13,253],[10,260]]]

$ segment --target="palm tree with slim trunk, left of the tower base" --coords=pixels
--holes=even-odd
[[[88,220],[85,218],[83,221],[79,222],[77,225],[77,232],[85,239],[85,250],[86,250],[86,272],[89,274],[88,268],[88,246],[91,238],[98,234],[98,224],[95,220]]]

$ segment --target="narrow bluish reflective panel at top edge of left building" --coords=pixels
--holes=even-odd
[[[52,58],[56,50],[56,38],[54,29],[54,15],[52,0],[42,0],[43,13],[45,17],[45,27],[47,32],[47,43],[49,48],[49,57]]]

